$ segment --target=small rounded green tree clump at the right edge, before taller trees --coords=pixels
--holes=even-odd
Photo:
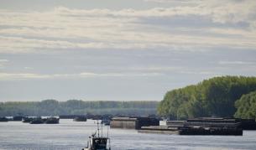
[[[243,95],[236,101],[235,106],[238,108],[238,111],[235,113],[236,117],[256,119],[256,91]]]

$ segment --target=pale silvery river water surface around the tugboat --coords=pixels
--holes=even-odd
[[[0,122],[0,149],[58,150],[86,147],[87,137],[95,132],[95,121],[31,125]],[[107,135],[107,127],[103,127]],[[238,136],[178,136],[138,133],[135,130],[110,129],[112,149],[255,149],[256,132]]]

